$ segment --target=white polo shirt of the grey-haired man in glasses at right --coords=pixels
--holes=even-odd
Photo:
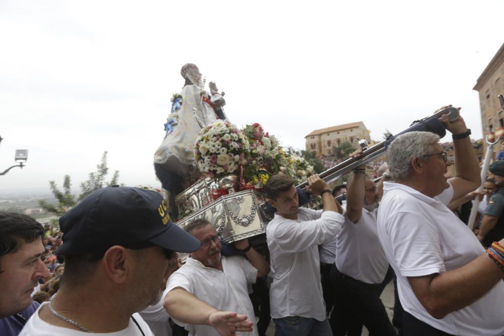
[[[378,213],[378,235],[397,276],[399,299],[408,313],[445,332],[461,336],[504,334],[504,284],[443,319],[432,317],[418,301],[407,277],[462,267],[485,253],[474,233],[446,205],[450,185],[435,198],[404,184],[385,182]]]

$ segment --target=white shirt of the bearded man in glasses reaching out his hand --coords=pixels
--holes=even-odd
[[[257,268],[244,257],[236,255],[222,257],[222,269],[224,272],[206,267],[196,259],[187,258],[185,264],[168,279],[165,292],[180,287],[214,308],[247,315],[248,320],[254,322],[254,330],[238,334],[257,336],[256,316],[247,290],[247,283],[256,282]],[[210,325],[186,324],[176,319],[173,321],[185,327],[190,335],[219,335]]]

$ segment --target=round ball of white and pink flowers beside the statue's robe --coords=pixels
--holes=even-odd
[[[209,177],[237,172],[246,163],[249,142],[235,125],[216,120],[200,130],[196,139],[195,159],[200,171]]]

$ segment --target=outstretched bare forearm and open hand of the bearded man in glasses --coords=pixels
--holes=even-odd
[[[163,306],[174,319],[187,324],[213,326],[223,336],[252,331],[253,323],[247,320],[246,315],[219,311],[180,287],[166,294]]]

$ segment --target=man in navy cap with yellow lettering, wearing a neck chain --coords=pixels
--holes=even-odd
[[[21,335],[152,335],[136,312],[158,302],[173,250],[200,246],[170,221],[163,197],[141,188],[101,188],[62,216],[59,226],[61,286]]]

